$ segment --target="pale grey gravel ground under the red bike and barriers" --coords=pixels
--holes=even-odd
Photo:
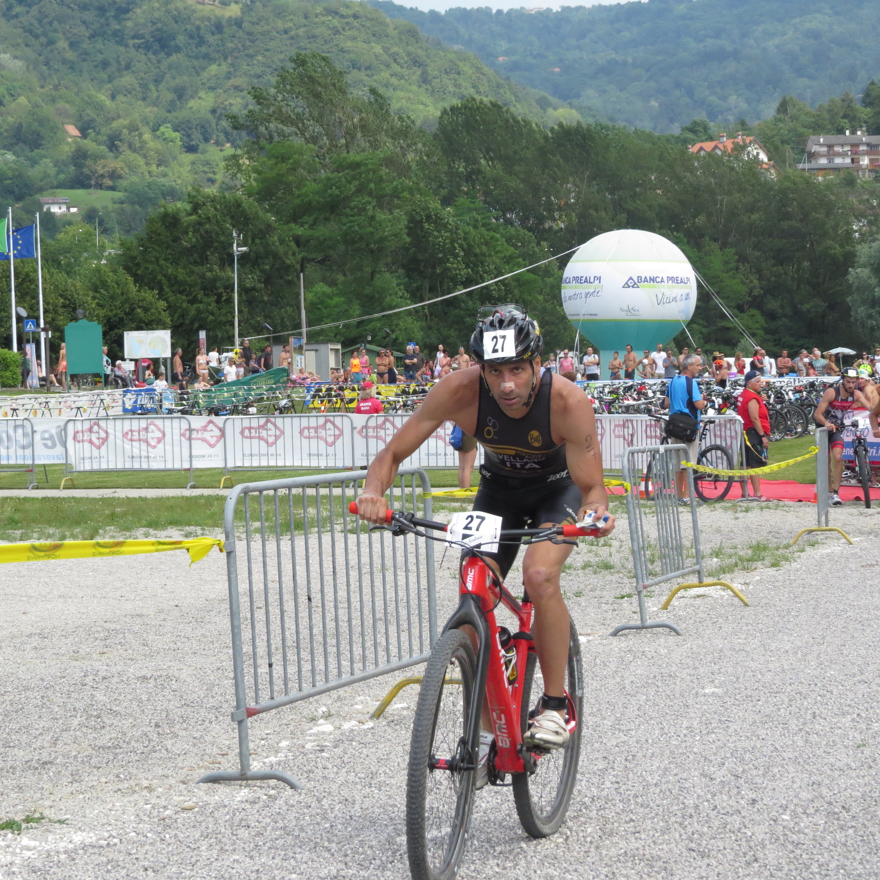
[[[635,619],[626,524],[613,540],[582,542],[563,584],[587,687],[568,821],[530,840],[510,791],[484,790],[463,880],[524,869],[876,877],[878,513],[833,510],[855,545],[823,535],[797,552],[781,545],[813,524],[810,505],[701,509],[704,554],[718,559],[708,568],[738,566],[727,579],[751,605],[709,588],[659,612],[657,590],[651,617],[681,627],[680,638],[608,637]],[[441,616],[453,570],[447,554]],[[66,823],[0,832],[0,877],[408,877],[414,688],[378,722],[365,715],[391,678],[253,719],[255,766],[296,775],[302,792],[198,786],[208,769],[237,766],[223,557],[3,571],[0,818],[42,811]],[[325,725],[334,730],[316,730]]]

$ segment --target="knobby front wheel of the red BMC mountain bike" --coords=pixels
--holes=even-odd
[[[413,880],[451,880],[465,851],[473,770],[431,769],[430,762],[461,756],[476,666],[470,639],[451,629],[436,641],[422,678],[407,770],[407,855]],[[460,684],[451,684],[456,679]],[[441,806],[444,795],[449,803]]]

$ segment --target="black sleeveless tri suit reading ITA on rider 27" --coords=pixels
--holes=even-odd
[[[550,432],[552,382],[553,373],[545,370],[535,388],[532,407],[521,419],[511,419],[480,375],[474,439],[484,454],[473,510],[502,517],[504,529],[577,520],[581,490],[568,475],[565,444],[554,444]],[[507,576],[518,550],[518,544],[501,544],[498,553],[487,555],[498,561],[502,576]]]

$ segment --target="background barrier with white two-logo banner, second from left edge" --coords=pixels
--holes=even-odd
[[[113,416],[64,422],[65,459],[61,488],[75,473],[189,471],[193,477],[193,431],[186,416]]]

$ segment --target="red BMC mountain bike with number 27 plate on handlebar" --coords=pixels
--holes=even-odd
[[[349,510],[357,512],[356,502]],[[423,530],[447,529],[444,523],[391,510],[386,521],[393,524],[392,533],[399,535],[410,532],[428,538]],[[597,529],[598,525],[591,529],[577,525],[505,529],[498,540],[526,539],[533,544],[557,537],[595,537]],[[468,551],[461,562],[461,600],[431,651],[409,747],[407,852],[414,880],[448,880],[458,871],[476,793],[484,693],[495,732],[488,781],[513,788],[519,821],[532,837],[547,837],[562,824],[575,787],[581,749],[583,674],[574,624],[569,629],[565,686],[568,744],[557,750],[526,747],[526,725],[539,713],[544,693],[532,642],[532,603],[527,595],[519,601],[507,590],[480,554],[479,545],[451,543]],[[511,635],[495,622],[498,605],[515,615],[516,633]],[[465,626],[473,627],[476,633],[476,652],[461,629]],[[535,708],[530,711],[532,703]]]

